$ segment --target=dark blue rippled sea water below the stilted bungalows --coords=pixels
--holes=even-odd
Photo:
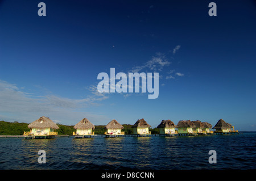
[[[46,163],[38,163],[39,150]],[[217,163],[210,164],[210,150]],[[0,138],[0,169],[256,169],[256,132],[237,135],[46,140]]]

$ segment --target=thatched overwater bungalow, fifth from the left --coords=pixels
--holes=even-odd
[[[160,136],[174,136],[177,134],[177,131],[175,131],[177,126],[171,120],[162,120],[156,128],[159,128]]]

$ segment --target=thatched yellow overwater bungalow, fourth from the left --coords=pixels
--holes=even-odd
[[[131,127],[133,128],[133,134],[137,136],[150,136],[151,132],[148,131],[151,125],[147,124],[147,122],[142,118],[136,121],[136,123]]]

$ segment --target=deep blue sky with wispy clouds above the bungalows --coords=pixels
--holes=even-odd
[[[208,15],[209,2],[217,16]],[[0,1],[0,120],[143,117],[154,128],[163,119],[224,119],[256,131],[255,44],[253,0]],[[110,68],[158,72],[158,99],[99,94],[97,75]]]

